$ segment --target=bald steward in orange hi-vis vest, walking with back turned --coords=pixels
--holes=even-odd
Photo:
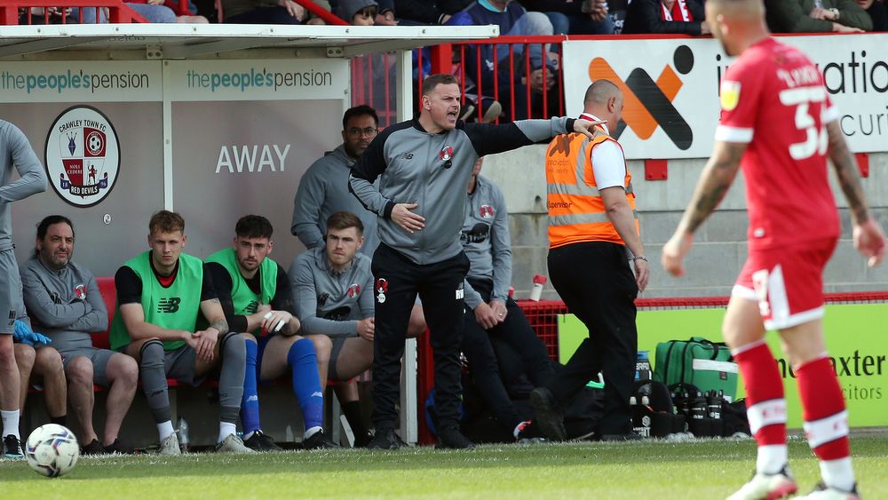
[[[599,373],[607,384],[596,437],[638,437],[632,433],[629,405],[638,350],[635,298],[645,290],[649,268],[632,174],[608,129],[620,123],[622,105],[622,92],[614,83],[592,83],[580,118],[606,123],[592,139],[559,135],[546,151],[549,277],[567,309],[589,329],[589,338],[565,369],[531,393],[536,422],[550,440],[566,438],[560,409]]]

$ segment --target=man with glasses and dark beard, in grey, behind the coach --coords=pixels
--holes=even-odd
[[[336,212],[349,211],[361,218],[364,225],[364,245],[361,253],[372,257],[377,250],[376,215],[364,210],[361,203],[348,192],[348,173],[352,165],[377,137],[379,118],[372,107],[361,105],[348,109],[342,117],[342,140],[332,153],[312,163],[299,181],[293,208],[290,232],[306,248],[324,244],[327,219]]]

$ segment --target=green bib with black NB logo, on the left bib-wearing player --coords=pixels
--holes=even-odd
[[[203,262],[200,258],[181,254],[178,257],[176,279],[169,287],[157,281],[151,268],[151,254],[142,253],[139,257],[123,264],[131,268],[142,282],[142,310],[145,321],[163,329],[184,329],[194,331],[197,314],[201,310],[201,290],[203,287]],[[115,306],[114,320],[111,321],[111,348],[119,350],[130,344],[130,333],[126,330],[120,315],[120,304]],[[163,349],[174,351],[185,345],[185,341],[163,342]]]

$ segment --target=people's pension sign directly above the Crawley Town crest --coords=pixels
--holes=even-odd
[[[160,61],[4,62],[0,102],[158,101],[161,70]]]

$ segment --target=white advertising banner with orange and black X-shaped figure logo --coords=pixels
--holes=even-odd
[[[779,40],[798,47],[821,68],[852,151],[888,151],[888,54],[873,50],[888,45],[888,35]],[[720,111],[719,85],[733,61],[717,40],[567,41],[563,50],[568,115],[582,111],[583,93],[593,80],[606,78],[621,87],[625,107],[615,133],[627,158],[710,155]]]

